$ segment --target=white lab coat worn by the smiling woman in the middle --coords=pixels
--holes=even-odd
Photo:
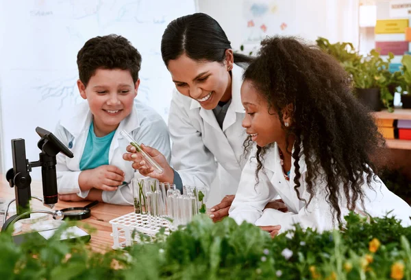
[[[222,195],[235,194],[245,159],[242,143],[247,135],[241,123],[245,115],[240,89],[242,68],[232,69],[232,102],[221,130],[212,110],[174,91],[169,113],[171,165],[183,185],[206,186],[216,178],[217,163]]]

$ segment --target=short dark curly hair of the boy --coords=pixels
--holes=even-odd
[[[135,83],[140,66],[141,56],[137,49],[129,40],[115,34],[91,38],[77,54],[79,78],[85,86],[99,68],[129,70]]]

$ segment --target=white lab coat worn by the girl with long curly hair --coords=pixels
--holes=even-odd
[[[282,226],[280,232],[292,229],[292,224],[296,223],[301,224],[303,228],[311,227],[319,231],[333,229],[336,226],[337,222],[333,224],[331,208],[325,201],[326,185],[324,182],[318,180],[314,183],[319,191],[310,205],[306,207],[306,203],[297,198],[294,190],[294,163],[292,162],[290,180],[288,181],[284,178],[276,143],[264,157],[264,166],[259,173],[260,183],[256,185],[257,162],[255,158],[252,158],[255,152],[256,150],[251,152],[251,158],[247,160],[242,172],[236,198],[229,209],[230,217],[238,223],[247,221],[258,226],[280,224]],[[299,193],[302,198],[308,201],[310,194],[306,191],[305,182],[307,167],[303,157],[301,157],[299,165],[301,172]],[[372,181],[371,185],[373,189],[370,189],[368,185],[363,187],[365,209],[358,201],[354,211],[362,215],[369,213],[372,217],[382,217],[388,211],[393,210],[390,215],[395,215],[400,219],[403,226],[410,226],[410,205],[389,191],[379,178]],[[273,200],[277,195],[284,200],[288,207],[288,213],[282,213],[275,209],[263,210],[267,202]],[[340,209],[342,217],[349,213],[347,200],[343,194],[340,198]]]

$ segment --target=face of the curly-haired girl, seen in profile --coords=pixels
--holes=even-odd
[[[282,128],[277,113],[271,109],[264,99],[258,93],[252,82],[245,80],[241,86],[241,102],[245,108],[245,117],[242,120],[242,127],[246,129],[247,134],[260,147],[264,147],[273,142],[283,143],[286,139],[286,133]],[[284,122],[289,118],[284,116]]]

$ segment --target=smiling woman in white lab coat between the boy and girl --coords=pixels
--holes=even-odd
[[[169,23],[161,52],[176,87],[169,113],[173,168],[149,147],[145,149],[164,168],[162,174],[147,170],[132,146],[127,150],[134,154],[125,154],[124,159],[134,161],[140,174],[175,183],[180,189],[182,185],[210,187],[218,173],[221,196],[227,195],[211,210],[212,218],[219,220],[228,215],[245,165],[240,66],[251,58],[234,54],[219,23],[201,13]]]

